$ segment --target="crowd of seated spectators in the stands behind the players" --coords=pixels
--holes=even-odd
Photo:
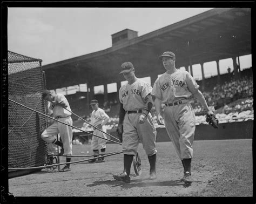
[[[219,119],[219,123],[230,123],[232,121],[245,121],[253,120],[253,79],[252,76],[243,76],[239,79],[226,80],[223,84],[216,84],[210,91],[202,91],[207,104],[211,110],[216,114]],[[117,100],[105,101],[103,104],[103,109],[106,112],[111,113],[112,109],[117,109]],[[191,105],[194,108],[196,114],[196,124],[207,124],[205,121],[205,110],[195,98],[191,99]],[[164,104],[162,104],[162,114],[164,110]],[[112,107],[112,108],[111,108]],[[107,130],[116,129],[119,118],[118,111],[113,112],[112,117],[110,117],[109,122],[106,124]],[[157,124],[156,110],[154,106],[151,110],[152,117],[154,119],[154,124]],[[84,118],[90,123],[90,115]],[[87,132],[93,131],[93,128],[84,123],[81,127],[82,130]],[[73,130],[74,132],[79,132],[78,130]]]

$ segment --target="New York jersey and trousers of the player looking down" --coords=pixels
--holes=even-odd
[[[125,111],[138,111],[145,108],[145,98],[152,91],[150,84],[137,79],[133,84],[125,84],[120,87],[119,100],[123,104]],[[154,127],[151,113],[146,117],[143,124],[139,123],[141,113],[127,113],[124,117],[123,132],[123,153],[136,155],[139,146],[139,140],[147,155],[151,156],[157,153],[156,136],[157,131]]]

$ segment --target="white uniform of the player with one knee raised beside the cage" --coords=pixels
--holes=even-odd
[[[59,103],[63,102],[67,106],[66,109],[71,111],[69,102],[68,100],[66,100],[66,97],[63,94],[56,94],[53,100],[58,101]],[[53,118],[62,121],[65,124],[73,124],[71,112],[65,110],[65,108],[59,105],[51,105],[50,108],[53,112]],[[63,155],[72,155],[72,127],[65,124],[54,121],[52,125],[46,128],[46,130],[42,133],[41,137],[44,141],[48,143],[55,143],[57,141],[56,135],[59,133],[64,147]]]

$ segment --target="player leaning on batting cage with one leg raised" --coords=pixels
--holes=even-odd
[[[53,115],[52,117],[62,121],[65,124],[72,125],[73,120],[71,118],[71,109],[69,106],[69,102],[63,94],[55,94],[51,93],[49,90],[45,90],[42,93],[43,100],[50,101]],[[59,145],[62,147],[62,152],[60,155],[72,155],[72,127],[65,125],[63,123],[59,123],[58,121],[54,121],[52,125],[50,125],[46,130],[42,133],[41,138],[52,144]],[[60,138],[62,140],[57,140],[57,134],[59,133]],[[66,157],[66,162],[70,162],[71,158]],[[66,164],[61,171],[70,171],[70,164]]]

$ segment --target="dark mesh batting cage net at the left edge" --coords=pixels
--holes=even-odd
[[[45,113],[42,91],[45,78],[41,59],[8,51],[9,99],[26,107]],[[8,166],[27,168],[43,166],[46,144],[41,138],[46,128],[46,118],[12,101],[8,101]],[[9,172],[14,170],[9,170]]]

